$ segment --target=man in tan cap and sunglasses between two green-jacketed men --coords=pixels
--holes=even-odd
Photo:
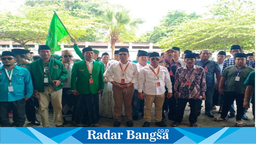
[[[71,71],[74,62],[72,61],[73,55],[70,50],[64,50],[61,52],[62,64],[67,70],[67,78],[63,82],[63,89],[62,89],[62,117],[64,123],[66,122],[66,117],[71,117],[74,119],[74,104],[75,104],[75,97],[71,92]]]

